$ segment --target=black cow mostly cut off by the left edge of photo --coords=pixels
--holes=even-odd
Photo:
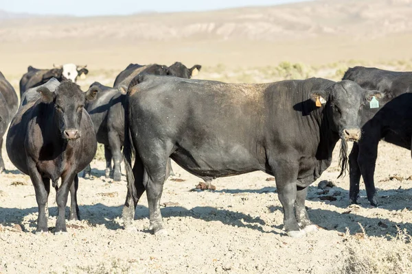
[[[4,162],[1,149],[3,147],[3,136],[7,130],[8,124],[12,120],[19,108],[19,98],[14,91],[13,86],[5,79],[0,72],[0,173],[4,171]]]

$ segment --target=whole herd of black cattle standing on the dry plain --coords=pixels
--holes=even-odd
[[[150,228],[165,232],[160,199],[171,158],[206,184],[251,171],[274,175],[284,229],[293,237],[317,229],[306,212],[306,194],[330,166],[338,140],[341,175],[350,170],[350,203],[357,203],[362,175],[374,206],[379,140],[411,149],[412,73],[357,66],[341,82],[227,84],[190,79],[200,70],[200,65],[188,69],[180,62],[130,64],[113,88],[95,82],[82,92],[76,79],[87,75],[86,66],[29,66],[20,81],[20,105],[0,73],[0,145],[11,122],[6,149],[34,185],[36,232],[48,232],[50,181],[58,205],[55,232],[66,232],[69,192],[69,219],[80,218],[78,173],[85,170],[84,177],[90,177],[98,142],[104,145],[106,177],[119,181],[125,162],[125,227],[146,191]],[[349,155],[348,141],[354,141]]]

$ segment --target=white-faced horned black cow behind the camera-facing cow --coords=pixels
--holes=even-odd
[[[41,84],[45,84],[53,77],[59,82],[64,80],[76,82],[78,76],[85,77],[85,75],[89,73],[86,66],[64,64],[62,66],[54,66],[53,69],[36,69],[29,66],[27,68],[27,73],[25,73],[20,80],[20,97],[22,97],[23,92],[29,88],[34,88],[36,86],[40,86]]]

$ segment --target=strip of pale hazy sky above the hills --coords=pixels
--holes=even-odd
[[[250,5],[276,5],[308,0],[0,0],[0,10],[32,14],[93,16],[136,12],[218,10]]]

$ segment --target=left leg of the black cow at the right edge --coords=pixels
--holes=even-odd
[[[350,175],[350,187],[349,187],[349,203],[358,203],[359,196],[359,184],[361,182],[361,169],[358,164],[359,145],[354,142],[352,151],[349,155],[349,175]]]

